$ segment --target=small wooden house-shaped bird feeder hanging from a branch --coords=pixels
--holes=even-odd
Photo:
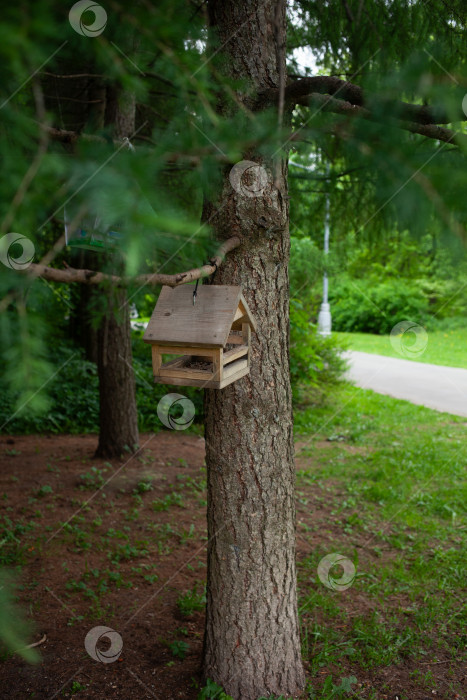
[[[254,320],[241,287],[162,287],[143,340],[158,384],[223,389],[250,371]],[[163,362],[163,355],[178,355]],[[180,357],[181,356],[181,357]]]

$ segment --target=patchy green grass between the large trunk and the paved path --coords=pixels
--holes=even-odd
[[[295,433],[303,656],[329,686],[310,697],[394,697],[398,689],[384,685],[388,667],[426,697],[432,690],[458,697],[454,660],[466,653],[465,418],[344,384],[326,406],[297,412]],[[345,591],[316,584],[329,553],[355,565]],[[352,677],[363,687],[339,694],[339,679]]]

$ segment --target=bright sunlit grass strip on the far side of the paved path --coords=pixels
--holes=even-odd
[[[336,333],[336,335],[346,341],[350,350],[467,369],[467,327],[454,331],[430,331],[424,352],[414,358],[399,355],[392,347],[388,335],[370,333]]]

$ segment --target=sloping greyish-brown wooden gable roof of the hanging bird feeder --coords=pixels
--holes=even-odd
[[[200,285],[194,305],[193,291],[191,284],[162,287],[143,336],[146,343],[224,347],[234,323],[256,330],[241,287]]]

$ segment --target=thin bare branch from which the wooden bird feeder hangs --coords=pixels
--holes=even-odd
[[[194,280],[201,279],[212,275],[217,268],[222,264],[224,257],[230,251],[238,248],[241,244],[241,239],[238,236],[228,238],[220,246],[219,250],[208,265],[196,267],[187,272],[178,272],[174,275],[165,275],[158,272],[138,275],[130,279],[124,279],[118,275],[109,275],[104,272],[96,272],[94,270],[77,270],[73,267],[67,267],[65,270],[57,270],[54,267],[48,267],[41,263],[32,263],[26,272],[33,278],[40,277],[41,279],[50,280],[52,282],[64,282],[70,284],[72,282],[81,282],[82,284],[101,284],[102,282],[111,282],[115,285],[133,284],[149,284],[157,285],[164,284],[168,287],[178,287],[180,284],[187,284]]]

